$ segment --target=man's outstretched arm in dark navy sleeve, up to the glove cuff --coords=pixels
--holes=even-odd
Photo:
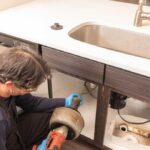
[[[49,99],[45,97],[33,96],[31,94],[16,96],[14,98],[16,105],[20,106],[25,111],[51,112],[56,107],[65,106],[65,98]]]

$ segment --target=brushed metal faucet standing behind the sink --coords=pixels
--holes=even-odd
[[[150,20],[150,12],[143,11],[145,0],[139,0],[139,6],[135,14],[134,26],[142,26],[143,20]]]

